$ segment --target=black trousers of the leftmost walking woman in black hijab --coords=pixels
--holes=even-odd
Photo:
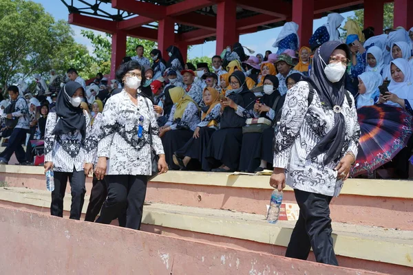
[[[70,219],[81,219],[83,203],[85,202],[85,172],[83,170],[72,173],[54,172],[54,191],[52,192],[52,204],[50,214],[63,217],[63,198],[70,181],[70,193],[72,194],[72,205],[70,206]]]

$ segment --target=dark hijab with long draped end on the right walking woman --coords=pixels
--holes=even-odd
[[[304,78],[308,83],[313,85],[317,91],[321,102],[324,102],[324,106],[333,109],[336,105],[341,107],[346,98],[346,90],[344,89],[343,76],[337,83],[331,83],[324,74],[324,68],[330,61],[332,52],[336,49],[341,49],[346,52],[347,56],[350,56],[350,50],[346,44],[338,41],[328,41],[321,45],[315,53],[313,59],[313,67],[311,67],[311,76]],[[321,61],[322,60],[324,61]],[[346,121],[342,113],[335,113],[334,115],[335,126],[324,137],[321,138],[319,143],[310,152],[308,158],[317,157],[322,153],[326,153],[324,156],[324,165],[337,161],[341,151],[343,150],[344,137],[346,136]]]

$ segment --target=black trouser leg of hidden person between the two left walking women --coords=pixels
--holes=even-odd
[[[107,186],[105,178],[98,180],[93,174],[92,191],[90,192],[89,205],[87,206],[85,221],[95,221],[100,209],[107,197]]]

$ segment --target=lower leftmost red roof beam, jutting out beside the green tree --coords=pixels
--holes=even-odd
[[[116,22],[96,17],[85,17],[81,14],[69,14],[69,23],[78,25],[79,27],[98,30],[99,32],[107,32],[114,34],[116,32]]]

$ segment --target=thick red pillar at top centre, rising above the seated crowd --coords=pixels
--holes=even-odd
[[[217,46],[216,53],[221,54],[226,46],[232,46],[238,41],[237,3],[235,0],[225,0],[217,4]]]

